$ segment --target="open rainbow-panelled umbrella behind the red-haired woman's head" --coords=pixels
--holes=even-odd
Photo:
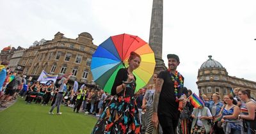
[[[127,68],[132,51],[141,56],[140,66],[133,71],[136,76],[136,91],[144,87],[154,73],[156,66],[154,52],[147,42],[130,34],[111,36],[99,45],[92,56],[91,64],[93,80],[96,84],[111,93],[116,73],[120,68]]]

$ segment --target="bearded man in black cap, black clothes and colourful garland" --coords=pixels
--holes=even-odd
[[[168,70],[161,71],[156,80],[152,123],[157,128],[160,123],[163,134],[174,134],[179,121],[179,101],[182,106],[185,100],[179,100],[184,94],[184,77],[177,71],[179,56],[168,54]]]

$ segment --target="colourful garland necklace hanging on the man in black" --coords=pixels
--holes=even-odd
[[[176,98],[175,101],[179,102],[179,100],[178,100],[178,89],[183,86],[182,76],[180,75],[180,73],[177,70],[175,71],[175,74],[170,73],[171,72],[170,69],[168,69],[168,71],[169,71],[171,80],[174,82],[174,95],[175,95],[175,98]]]

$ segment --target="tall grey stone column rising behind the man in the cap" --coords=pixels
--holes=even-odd
[[[153,0],[148,44],[152,48],[156,58],[155,72],[166,70],[162,59],[163,49],[163,0]]]

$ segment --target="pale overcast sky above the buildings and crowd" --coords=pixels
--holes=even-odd
[[[256,1],[164,1],[163,59],[180,57],[185,86],[196,91],[201,64],[212,55],[228,75],[256,81]],[[28,48],[35,40],[92,34],[95,45],[116,34],[148,42],[152,0],[1,0],[0,49]]]

